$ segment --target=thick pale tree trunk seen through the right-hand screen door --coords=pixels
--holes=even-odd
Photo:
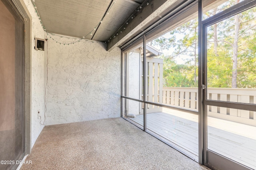
[[[239,3],[239,0],[236,1],[236,4]],[[239,18],[238,15],[235,15],[235,33],[234,33],[234,42],[233,42],[233,67],[232,67],[232,88],[237,88],[237,49],[238,49],[238,33],[239,33]]]

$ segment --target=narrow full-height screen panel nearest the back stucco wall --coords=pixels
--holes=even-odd
[[[122,117],[144,127],[142,44],[126,51],[122,61]]]

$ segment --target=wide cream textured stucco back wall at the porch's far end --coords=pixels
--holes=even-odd
[[[120,49],[49,36],[46,125],[120,117]]]

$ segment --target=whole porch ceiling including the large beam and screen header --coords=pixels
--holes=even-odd
[[[224,0],[204,0],[213,8]],[[125,48],[143,33],[163,34],[197,16],[197,0],[32,0],[47,32]],[[214,2],[214,3],[213,3]],[[148,36],[150,37],[150,36]]]

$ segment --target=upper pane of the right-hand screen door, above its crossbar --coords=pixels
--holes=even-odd
[[[256,104],[255,12],[207,27],[207,100]]]

